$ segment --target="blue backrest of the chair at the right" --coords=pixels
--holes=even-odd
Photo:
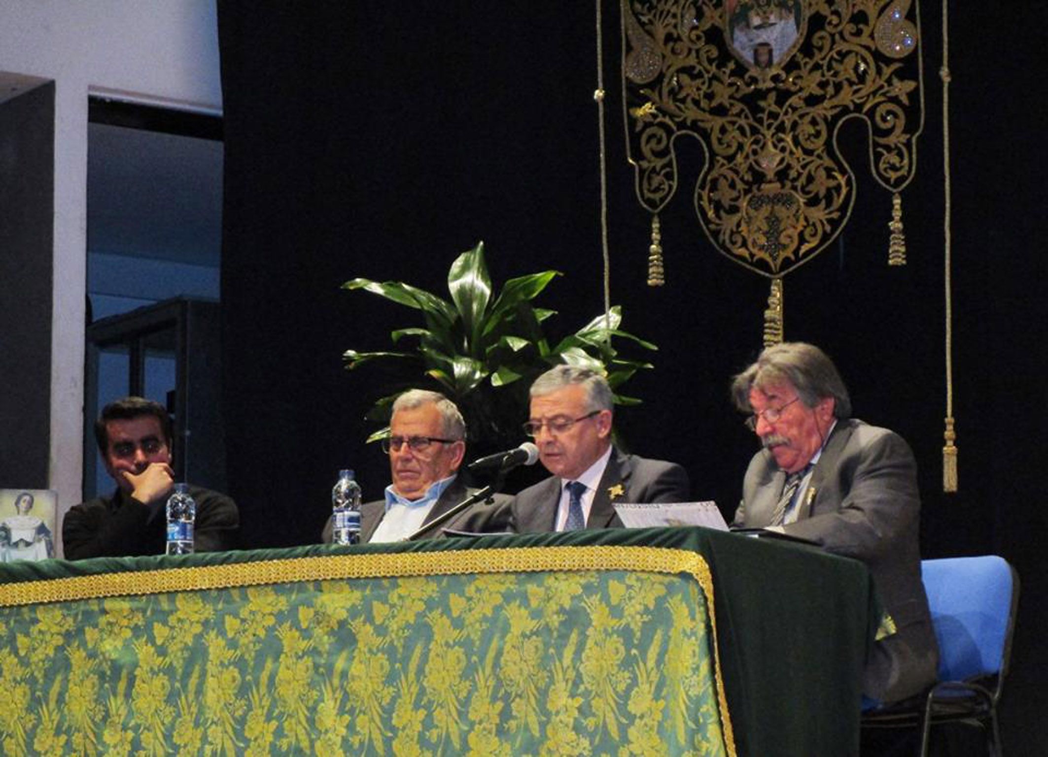
[[[1007,671],[1019,591],[1011,565],[996,555],[921,561],[939,642],[939,681]]]

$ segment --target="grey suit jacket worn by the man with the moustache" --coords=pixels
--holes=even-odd
[[[754,455],[732,525],[768,526],[785,480],[768,450]],[[920,495],[910,446],[887,428],[837,421],[800,508],[798,521],[783,530],[865,562],[896,627],[875,645],[863,692],[881,702],[920,692],[935,681],[938,648],[920,576]]]

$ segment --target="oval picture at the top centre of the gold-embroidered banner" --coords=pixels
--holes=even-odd
[[[783,61],[801,29],[801,0],[727,0],[728,41],[758,68]]]

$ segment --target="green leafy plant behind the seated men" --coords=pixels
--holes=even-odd
[[[618,404],[637,404],[619,387],[651,363],[619,355],[613,339],[625,339],[645,350],[657,348],[619,328],[616,306],[578,331],[552,343],[544,333],[555,311],[532,306],[532,300],[561,275],[543,271],[510,279],[496,292],[484,261],[484,245],[460,254],[447,272],[451,300],[403,282],[353,279],[344,289],[363,289],[419,311],[423,326],[397,329],[390,334],[399,352],[344,354],[346,368],[380,361],[392,369],[393,391],[375,402],[368,418],[389,422],[390,405],[407,388],[432,388],[452,399],[468,424],[471,443],[477,448],[503,448],[520,440],[520,425],[527,418],[528,387],[543,372],[559,363],[592,368],[604,373]],[[380,439],[383,428],[368,441]]]

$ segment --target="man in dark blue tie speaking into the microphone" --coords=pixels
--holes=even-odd
[[[518,533],[621,528],[616,500],[689,500],[682,467],[626,454],[611,443],[612,393],[601,374],[558,365],[536,379],[530,398],[524,432],[552,476],[514,498]]]

